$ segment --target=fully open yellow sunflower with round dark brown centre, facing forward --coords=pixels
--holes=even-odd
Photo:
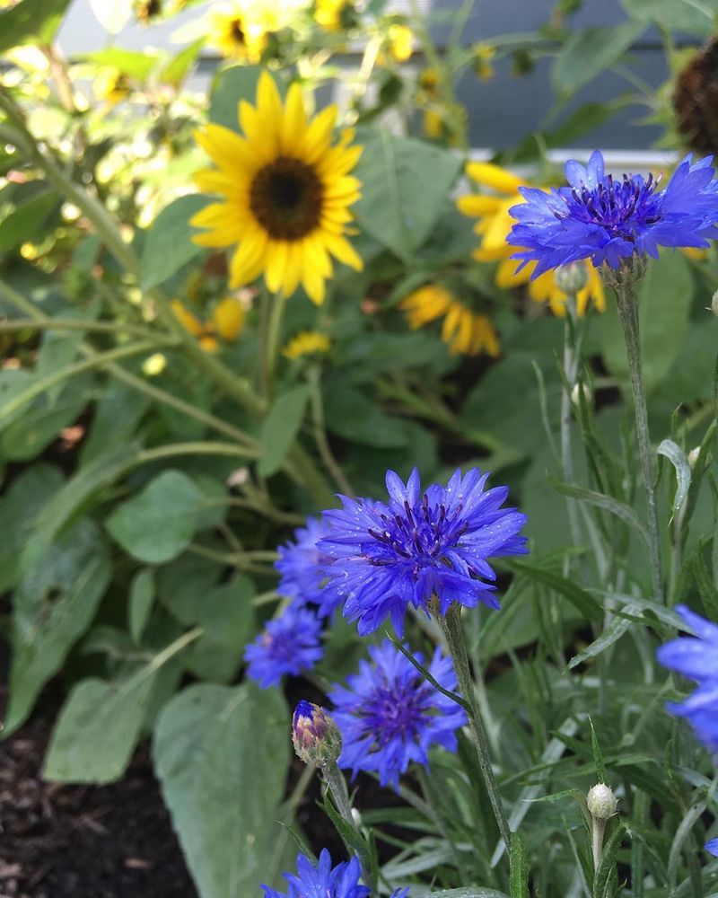
[[[272,293],[291,295],[301,283],[311,300],[324,300],[332,275],[329,254],[360,271],[362,260],[346,240],[353,220],[349,207],[361,183],[350,175],[360,146],[349,146],[346,130],[331,145],[337,107],[306,119],[302,91],[293,84],[283,107],[270,75],[263,72],[257,106],[240,103],[244,136],[207,125],[197,142],[217,164],[196,175],[200,189],[223,195],[190,224],[208,228],[194,240],[201,246],[238,243],[230,264],[230,285],[248,284],[264,272]]]

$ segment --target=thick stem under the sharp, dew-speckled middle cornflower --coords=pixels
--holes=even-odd
[[[491,766],[486,728],[478,710],[474,681],[468,666],[466,639],[464,638],[464,630],[461,627],[461,606],[457,603],[452,603],[446,614],[439,615],[439,622],[451,653],[456,679],[459,683],[459,691],[466,702],[468,723],[471,726],[471,733],[474,736],[474,744],[477,750],[478,768],[484,779],[484,785],[486,786],[486,792],[488,792],[499,832],[501,832],[501,837],[505,842],[506,850],[509,850],[511,848],[511,830],[509,829],[506,812],[503,810],[494,768]]]

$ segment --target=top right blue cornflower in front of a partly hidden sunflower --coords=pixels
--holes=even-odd
[[[525,203],[512,206],[517,220],[507,240],[521,251],[512,258],[537,263],[531,277],[548,269],[591,259],[617,269],[635,253],[658,257],[659,246],[708,246],[718,237],[718,182],[713,157],[692,162],[687,155],[666,189],[659,180],[624,175],[614,180],[604,169],[603,156],[591,154],[585,167],[565,165],[569,187],[522,187]]]

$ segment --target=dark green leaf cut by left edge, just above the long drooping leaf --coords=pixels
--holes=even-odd
[[[59,469],[39,462],[22,471],[0,497],[0,593],[16,585],[21,551],[33,533],[35,518],[62,480]]]

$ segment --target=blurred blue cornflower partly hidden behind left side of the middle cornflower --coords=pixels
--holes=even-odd
[[[331,589],[322,588],[322,566],[331,559],[317,548],[317,542],[327,533],[326,522],[320,518],[308,518],[306,527],[294,531],[294,541],[277,549],[279,559],[275,562],[280,574],[277,592],[298,604],[311,602],[319,605],[322,617],[328,617],[342,600]]]

